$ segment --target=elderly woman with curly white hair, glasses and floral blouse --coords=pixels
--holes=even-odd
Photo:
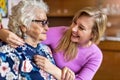
[[[49,47],[40,43],[48,31],[47,12],[48,7],[42,0],[21,0],[12,8],[9,30],[25,43],[14,49],[0,42],[0,80],[54,80],[56,75],[53,77],[51,72],[41,70],[33,60],[38,54],[54,64]]]

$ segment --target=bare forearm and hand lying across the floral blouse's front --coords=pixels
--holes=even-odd
[[[52,74],[57,80],[61,80],[62,70],[52,64],[46,57],[35,55],[34,60],[40,69]]]

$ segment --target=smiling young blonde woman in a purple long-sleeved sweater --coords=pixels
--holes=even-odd
[[[92,80],[103,58],[97,44],[104,34],[106,22],[107,16],[99,9],[86,7],[75,14],[70,27],[57,26],[49,29],[47,40],[43,43],[50,46],[56,65],[63,69],[62,79]],[[6,42],[21,43],[11,40],[11,37],[3,39]],[[40,68],[49,70],[49,61],[45,57],[36,55],[34,59]]]

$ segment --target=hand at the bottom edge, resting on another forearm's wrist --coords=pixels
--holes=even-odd
[[[75,73],[67,67],[62,69],[62,80],[75,80]]]

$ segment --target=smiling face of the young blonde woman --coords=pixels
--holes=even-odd
[[[86,45],[92,38],[92,27],[94,19],[89,16],[81,16],[76,21],[73,21],[71,41],[76,42],[81,46]]]

